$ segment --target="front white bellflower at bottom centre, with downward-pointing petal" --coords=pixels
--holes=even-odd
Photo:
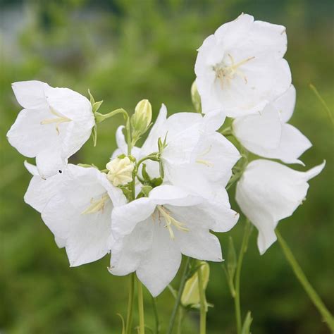
[[[215,232],[226,232],[238,214],[225,199],[208,202],[172,185],[161,185],[149,197],[113,209],[111,268],[114,275],[136,271],[156,296],[178,271],[181,254],[195,259],[222,261]]]

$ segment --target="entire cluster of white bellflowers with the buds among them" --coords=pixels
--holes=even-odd
[[[307,181],[324,166],[299,172],[269,160],[302,164],[299,156],[311,147],[287,124],[295,88],[286,49],[281,25],[242,14],[219,27],[204,40],[195,64],[192,97],[202,113],[167,117],[162,105],[142,147],[135,144],[151,125],[147,100],[131,118],[123,109],[103,115],[100,102],[70,89],[13,84],[24,109],[8,140],[36,158],[36,166],[25,163],[33,175],[25,202],[66,248],[70,266],[111,252],[111,273],[136,272],[151,295],[159,295],[177,273],[181,254],[223,260],[210,231],[227,232],[238,221],[226,191],[231,185],[240,210],[259,230],[259,251],[266,252],[278,221],[292,215]],[[106,169],[68,163],[96,135],[97,123],[117,113],[126,124],[116,132],[118,149]],[[226,116],[232,123],[221,130]],[[241,154],[224,135],[235,137]],[[266,159],[250,162],[248,152]]]

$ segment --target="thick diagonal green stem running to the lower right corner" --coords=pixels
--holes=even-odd
[[[277,239],[280,244],[280,247],[282,247],[283,249],[285,258],[287,259],[287,262],[289,262],[292,270],[294,271],[295,276],[297,277],[297,280],[299,280],[299,283],[302,284],[302,287],[304,287],[305,292],[307,292],[307,295],[313,302],[314,306],[320,312],[321,316],[323,317],[323,320],[327,323],[327,326],[330,329],[330,332],[334,333],[333,316],[330,314],[330,311],[328,311],[325,304],[323,304],[323,301],[316,293],[316,290],[314,290],[314,288],[311,286],[311,284],[309,283],[309,280],[307,280],[307,277],[302,271],[302,268],[299,266],[297,260],[295,259],[295,256],[293,256],[291,249],[289,248],[289,246],[287,246],[287,243],[285,242],[282,235],[280,235],[277,229],[276,229],[276,235],[277,235]]]

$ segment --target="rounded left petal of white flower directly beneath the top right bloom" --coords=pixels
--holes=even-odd
[[[236,118],[233,122],[237,140],[256,154],[261,149],[276,149],[280,144],[281,131],[279,113],[271,104],[261,113]]]

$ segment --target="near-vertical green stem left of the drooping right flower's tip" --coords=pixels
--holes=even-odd
[[[247,219],[245,223],[244,236],[242,237],[242,244],[240,248],[239,257],[237,259],[237,271],[235,273],[234,305],[235,305],[235,321],[237,323],[237,334],[241,334],[242,330],[241,309],[240,309],[240,273],[242,267],[242,260],[244,259],[245,252],[247,251],[250,232],[251,232],[251,225],[249,223],[249,220]]]

